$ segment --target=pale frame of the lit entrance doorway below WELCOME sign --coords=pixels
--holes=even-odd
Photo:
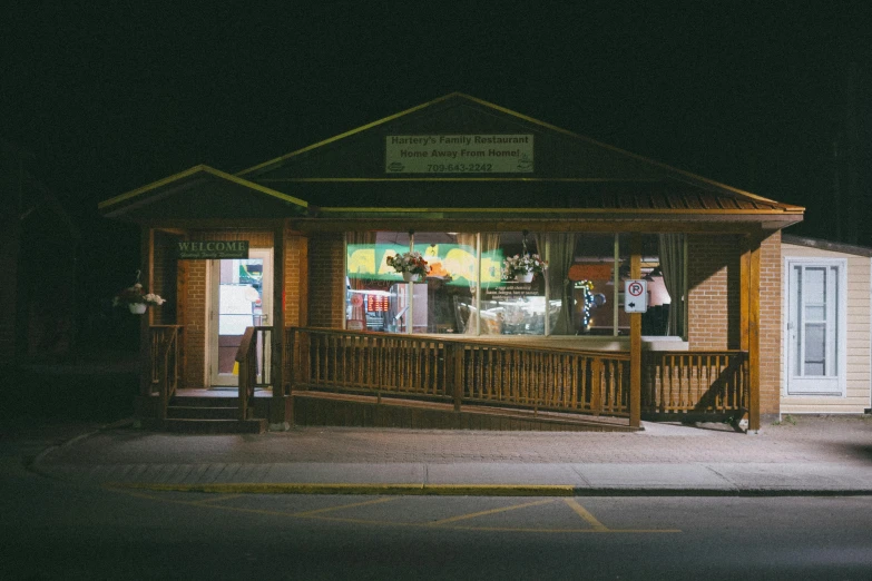
[[[263,260],[263,285],[261,287],[261,311],[266,315],[262,325],[272,325],[273,318],[273,285],[275,284],[273,248],[249,248],[248,259]],[[218,287],[221,260],[208,260],[206,268],[206,344],[205,344],[205,377],[209,388],[226,388],[238,386],[238,375],[218,373]],[[267,360],[268,361],[268,360]]]

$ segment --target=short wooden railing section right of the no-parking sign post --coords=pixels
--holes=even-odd
[[[736,421],[748,405],[747,352],[675,351],[643,354],[641,411],[658,415],[723,415]]]

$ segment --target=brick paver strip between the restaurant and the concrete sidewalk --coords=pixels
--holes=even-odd
[[[55,463],[852,463],[872,461],[872,418],[800,416],[757,435],[727,426],[646,424],[643,433],[296,427],[262,435],[114,429],[61,446]]]

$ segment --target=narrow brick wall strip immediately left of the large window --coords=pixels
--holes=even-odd
[[[308,242],[308,324],[313,327],[342,328],[344,252],[342,233],[315,235]]]

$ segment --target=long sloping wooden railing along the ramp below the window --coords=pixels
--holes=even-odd
[[[288,328],[296,387],[628,415],[629,355],[415,335]]]

